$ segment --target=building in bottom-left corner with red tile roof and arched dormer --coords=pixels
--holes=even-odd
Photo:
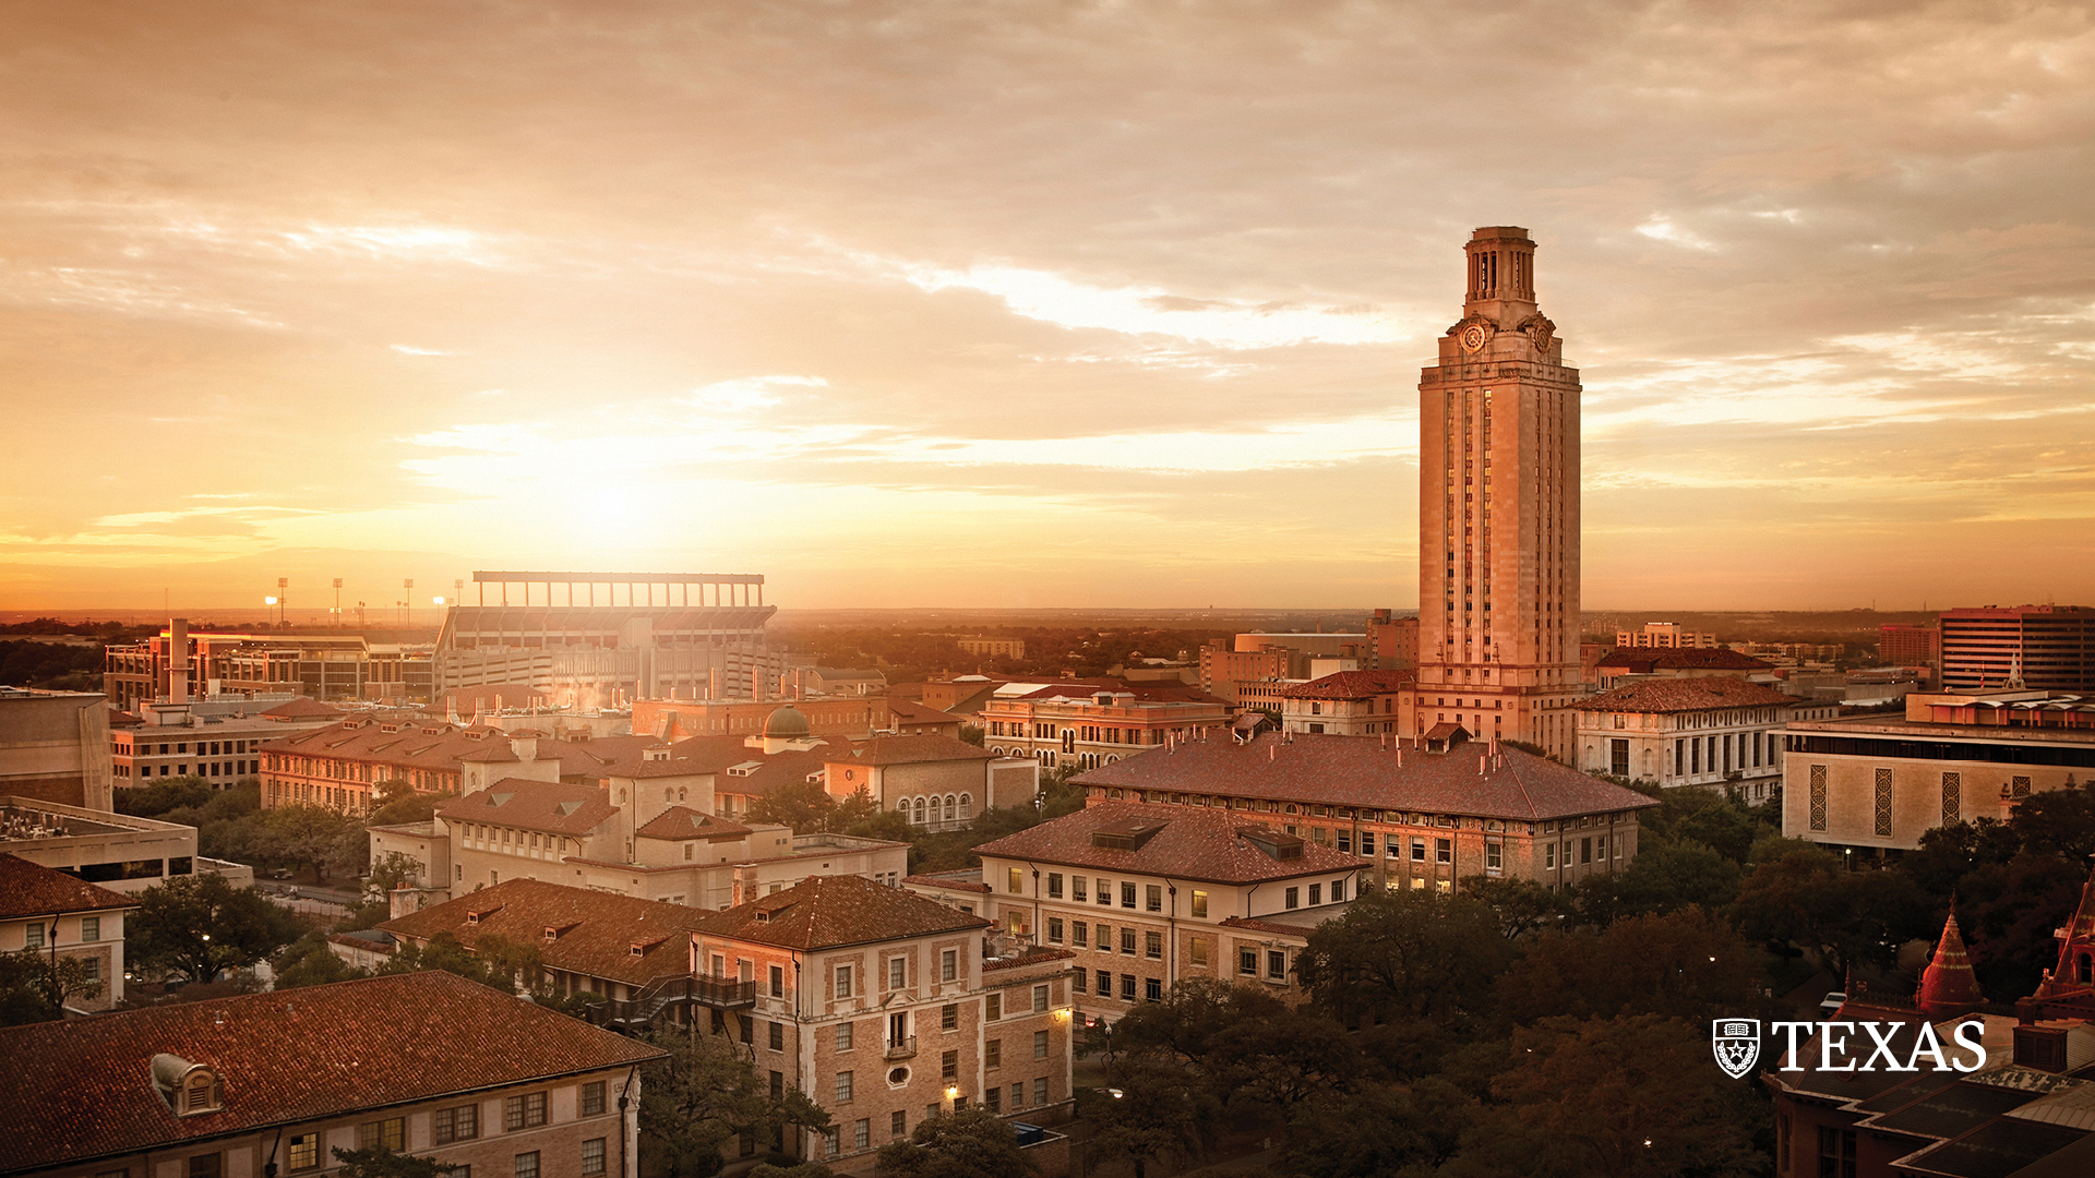
[[[0,1172],[38,1178],[318,1178],[369,1147],[639,1178],[664,1054],[440,970],[0,1027]]]

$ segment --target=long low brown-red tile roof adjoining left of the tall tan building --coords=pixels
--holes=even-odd
[[[471,914],[478,920],[469,920]],[[538,950],[547,966],[626,985],[691,970],[691,929],[704,910],[545,880],[503,880],[388,920],[394,937],[429,941],[450,933],[465,947],[507,937]],[[559,935],[545,939],[545,931]],[[633,945],[641,945],[635,954]]]

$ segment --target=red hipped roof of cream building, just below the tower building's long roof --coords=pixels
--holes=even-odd
[[[1133,757],[1123,761],[1123,765],[1140,759]],[[1322,843],[1280,834],[1278,826],[1265,828],[1263,822],[1263,815],[1244,811],[1108,801],[1083,807],[1054,822],[1031,826],[1018,834],[983,843],[974,853],[983,857],[997,855],[1001,859],[1031,859],[1102,872],[1140,872],[1209,882],[1284,880],[1360,868],[1364,864]],[[1094,845],[1094,834],[1131,830],[1129,824],[1156,826],[1156,832],[1140,849]],[[1301,857],[1276,859],[1255,841],[1244,838],[1242,832],[1247,830],[1265,830],[1282,841],[1301,843]]]

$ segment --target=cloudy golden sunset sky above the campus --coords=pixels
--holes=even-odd
[[[2087,4],[4,19],[0,610],[1416,606],[1481,224],[1588,606],[2095,604]]]

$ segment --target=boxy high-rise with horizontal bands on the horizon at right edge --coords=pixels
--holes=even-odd
[[[2095,608],[1942,610],[1942,690],[2095,692]]]

